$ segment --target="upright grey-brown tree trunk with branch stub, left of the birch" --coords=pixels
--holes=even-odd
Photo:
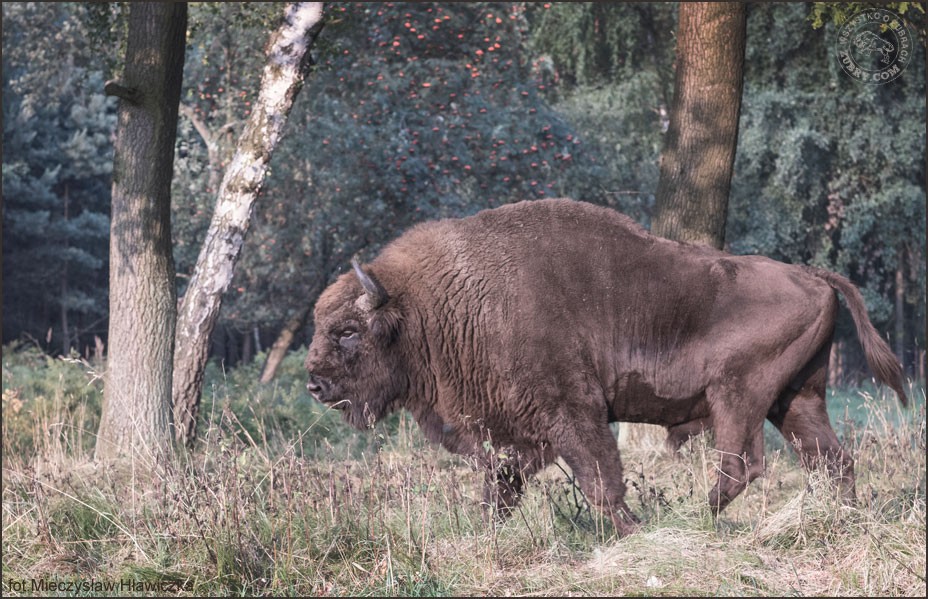
[[[113,165],[109,354],[96,457],[145,461],[171,448],[176,295],[171,177],[187,5],[133,2]],[[143,462],[145,463],[145,462]]]

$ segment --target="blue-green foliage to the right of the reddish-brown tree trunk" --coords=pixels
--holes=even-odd
[[[861,85],[831,56],[830,27],[803,28],[805,10],[749,11],[728,242],[735,253],[849,275],[883,327],[896,317],[901,266],[913,321],[924,322],[923,55],[892,85]],[[924,347],[923,332],[911,329],[911,345]]]

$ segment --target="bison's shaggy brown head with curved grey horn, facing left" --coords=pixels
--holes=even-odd
[[[398,337],[402,313],[377,279],[354,260],[316,303],[316,333],[306,357],[306,388],[345,420],[365,428],[406,392]]]

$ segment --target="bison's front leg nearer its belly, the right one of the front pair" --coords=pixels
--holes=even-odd
[[[587,499],[615,525],[620,536],[636,532],[640,520],[625,503],[622,459],[606,415],[572,413],[554,432],[555,450],[573,471]]]

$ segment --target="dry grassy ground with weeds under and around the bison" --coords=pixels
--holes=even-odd
[[[167,465],[95,465],[92,365],[3,351],[3,595],[925,596],[925,394],[831,399],[859,505],[775,431],[767,474],[717,521],[698,438],[623,453],[623,539],[559,467],[505,523],[482,475],[401,415],[355,433],[303,391],[301,356],[261,387],[212,371],[200,446]]]

